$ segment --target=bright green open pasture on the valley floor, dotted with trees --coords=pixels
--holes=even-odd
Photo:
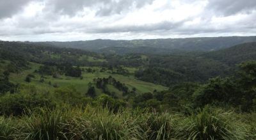
[[[100,67],[91,67],[96,72],[88,73],[83,72],[82,76],[83,79],[77,78],[77,77],[67,77],[65,75],[60,75],[58,78],[53,78],[52,76],[45,76],[45,81],[40,82],[40,75],[35,73],[35,70],[39,68],[39,64],[31,63],[31,68],[29,70],[24,70],[20,74],[11,74],[10,75],[10,81],[14,83],[23,83],[23,84],[30,84],[31,86],[35,86],[36,89],[40,91],[52,91],[54,90],[54,87],[52,85],[56,84],[59,87],[63,86],[74,86],[77,91],[81,93],[86,93],[88,89],[88,83],[93,82],[93,79],[97,77],[109,77],[111,75],[116,80],[125,83],[125,85],[131,90],[132,88],[136,88],[136,92],[138,93],[145,93],[145,92],[152,92],[154,89],[157,91],[162,91],[164,89],[167,89],[164,86],[153,84],[150,82],[144,82],[137,80],[132,74],[136,70],[136,68],[127,68],[129,72],[131,72],[131,75],[119,75],[119,74],[111,74],[109,72],[99,72]],[[88,67],[83,67],[88,68]],[[35,75],[35,78],[31,78],[31,82],[25,82],[24,79],[26,78],[26,75],[33,74]],[[49,84],[51,82],[51,85]],[[120,91],[118,92],[118,89],[115,89],[115,87],[109,85],[110,91],[115,91],[118,95],[122,94]],[[100,89],[96,89],[97,94],[102,93]],[[120,95],[121,96],[121,95]]]

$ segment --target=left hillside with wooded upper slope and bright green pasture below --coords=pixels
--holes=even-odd
[[[33,86],[42,92],[74,86],[77,91],[85,94],[89,83],[95,86],[94,79],[106,79],[109,76],[124,84],[128,91],[136,89],[136,93],[167,89],[164,86],[136,79],[134,72],[137,68],[111,66],[108,59],[101,54],[79,49],[58,48],[29,42],[0,42],[0,54],[0,76],[5,77],[4,72],[8,72],[10,73],[6,73],[8,80],[13,84]],[[111,66],[111,70],[108,66]],[[122,97],[123,91],[117,89],[116,85],[108,83],[105,86],[95,88],[96,94],[107,92]]]

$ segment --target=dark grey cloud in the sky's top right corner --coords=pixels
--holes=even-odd
[[[234,15],[241,12],[251,12],[256,10],[256,0],[209,0],[205,8],[213,10],[219,15]]]

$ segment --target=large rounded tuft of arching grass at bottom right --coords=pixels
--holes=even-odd
[[[188,139],[244,139],[244,124],[234,120],[233,115],[232,112],[205,107],[186,118],[181,131]]]

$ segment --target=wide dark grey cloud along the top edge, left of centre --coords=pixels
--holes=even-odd
[[[93,8],[96,15],[106,16],[111,14],[120,14],[122,11],[128,10],[131,6],[141,8],[145,4],[150,4],[154,0],[48,0],[47,6],[54,8],[55,12],[64,15],[76,15],[83,8]]]

